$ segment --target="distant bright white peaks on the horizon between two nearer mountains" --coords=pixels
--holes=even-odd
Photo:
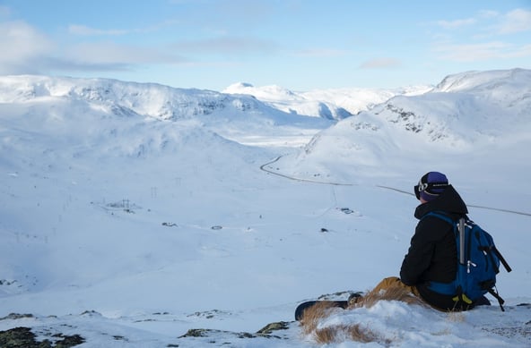
[[[416,86],[404,89],[318,89],[295,92],[274,85],[255,87],[239,82],[223,92],[254,96],[286,113],[342,120],[397,95],[417,95],[431,89],[428,86]]]

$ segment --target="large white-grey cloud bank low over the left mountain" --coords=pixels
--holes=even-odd
[[[86,35],[97,32],[81,26],[75,30]],[[134,70],[140,64],[187,63],[186,58],[165,47],[123,45],[112,41],[61,46],[24,21],[0,22],[0,47],[4,47],[0,55],[0,74],[124,71]]]

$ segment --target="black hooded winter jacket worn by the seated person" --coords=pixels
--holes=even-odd
[[[444,212],[454,220],[468,213],[465,202],[451,185],[437,199],[418,206],[414,216],[421,220],[431,211]],[[415,228],[400,268],[400,278],[404,284],[415,286],[431,306],[440,310],[463,310],[455,308],[453,296],[429,289],[430,281],[449,283],[456,275],[457,246],[453,227],[438,217],[427,216]]]

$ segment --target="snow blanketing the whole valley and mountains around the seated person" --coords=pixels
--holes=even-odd
[[[439,170],[513,268],[498,278],[506,311],[382,301],[321,325],[380,337],[341,347],[531,344],[518,306],[531,302],[531,72],[463,72],[346,118],[283,112],[339,106],[346,90],[235,93],[0,77],[0,331],[78,334],[80,347],[318,346],[296,306],[397,276],[413,185]],[[183,336],[194,328],[209,330]]]

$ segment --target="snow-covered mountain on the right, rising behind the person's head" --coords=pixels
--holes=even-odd
[[[451,157],[470,153],[527,156],[523,149],[531,142],[529,110],[531,71],[459,73],[430,92],[390,98],[319,132],[295,160],[285,158],[290,166],[286,170],[352,182],[360,170],[404,166],[406,158],[437,166],[438,161],[451,163]],[[498,160],[485,165],[496,166]],[[337,161],[344,164],[342,169],[326,169]],[[309,172],[316,167],[322,172]]]

